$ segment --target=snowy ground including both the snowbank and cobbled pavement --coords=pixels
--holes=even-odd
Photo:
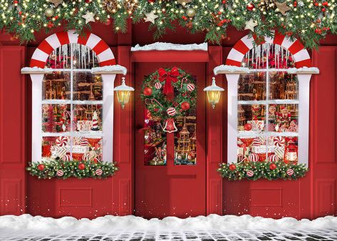
[[[225,240],[337,240],[337,217],[295,220],[209,215],[180,219],[105,216],[95,220],[74,217],[0,216],[0,240],[36,241],[225,241]]]

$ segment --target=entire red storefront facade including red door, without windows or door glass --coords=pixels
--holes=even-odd
[[[135,88],[124,109],[113,106],[113,160],[118,172],[95,180],[38,180],[25,168],[31,160],[31,79],[21,75],[33,52],[48,35],[20,46],[7,34],[0,36],[0,214],[30,213],[49,217],[99,217],[141,215],[143,217],[196,215],[260,215],[264,217],[315,218],[337,212],[336,91],[337,39],[328,36],[318,51],[310,53],[311,65],[320,73],[311,78],[309,118],[309,173],[299,180],[228,181],[217,173],[227,161],[227,79],[218,75],[225,91],[215,109],[202,91],[214,76],[213,69],[225,63],[229,51],[247,32],[230,30],[222,46],[208,51],[134,52],[136,44],[153,43],[147,24],[131,26],[127,34],[114,34],[99,24],[93,34],[110,46],[116,63],[128,68],[126,80]],[[61,29],[60,29],[61,31]],[[183,29],[160,41],[202,43],[204,35],[190,35]],[[185,69],[198,79],[197,165],[146,166],[140,158],[142,111],[138,97],[142,76],[160,67]],[[120,76],[115,79],[120,83]],[[174,142],[167,135],[167,143]]]

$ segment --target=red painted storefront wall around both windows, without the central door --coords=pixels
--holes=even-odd
[[[130,46],[155,41],[172,43],[202,43],[204,34],[190,35],[185,29],[178,34],[168,32],[153,40],[147,24],[138,24],[127,34],[115,34],[113,29],[94,24],[93,33],[113,49],[117,62],[128,68],[128,83],[135,86],[134,63]],[[60,29],[61,30],[61,29]],[[227,57],[230,48],[246,31],[229,29],[222,46],[209,46],[206,65],[207,81],[212,69]],[[97,217],[105,214],[134,213],[135,190],[135,127],[134,100],[124,110],[115,102],[114,160],[120,170],[106,180],[69,179],[37,180],[24,168],[31,156],[31,81],[19,73],[26,66],[34,49],[46,35],[36,36],[28,46],[6,34],[0,35],[0,215],[24,212],[32,215],[61,217]],[[222,180],[217,165],[227,157],[226,91],[216,110],[207,108],[207,207],[206,213],[250,214],[265,217],[318,217],[336,214],[336,82],[337,38],[328,36],[318,52],[312,53],[313,66],[321,74],[311,79],[311,112],[309,168],[306,178],[297,181]],[[334,46],[335,45],[335,46]],[[226,88],[224,76],[217,81]],[[119,83],[116,79],[115,83]],[[10,103],[10,104],[9,104]]]

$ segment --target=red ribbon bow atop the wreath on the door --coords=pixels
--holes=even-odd
[[[175,97],[175,91],[172,86],[172,82],[176,83],[178,81],[177,77],[180,76],[179,70],[177,67],[173,67],[171,71],[165,71],[164,68],[158,70],[160,82],[165,81],[165,86],[162,91],[167,96],[167,99],[172,101]]]

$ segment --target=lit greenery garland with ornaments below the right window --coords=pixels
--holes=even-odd
[[[221,163],[218,172],[228,180],[296,180],[303,178],[308,172],[305,164],[286,164],[278,162],[241,162]]]

